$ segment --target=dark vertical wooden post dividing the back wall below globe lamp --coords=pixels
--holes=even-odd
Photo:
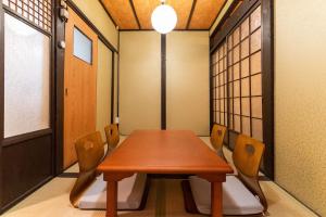
[[[166,129],[166,35],[161,35],[161,129]]]

